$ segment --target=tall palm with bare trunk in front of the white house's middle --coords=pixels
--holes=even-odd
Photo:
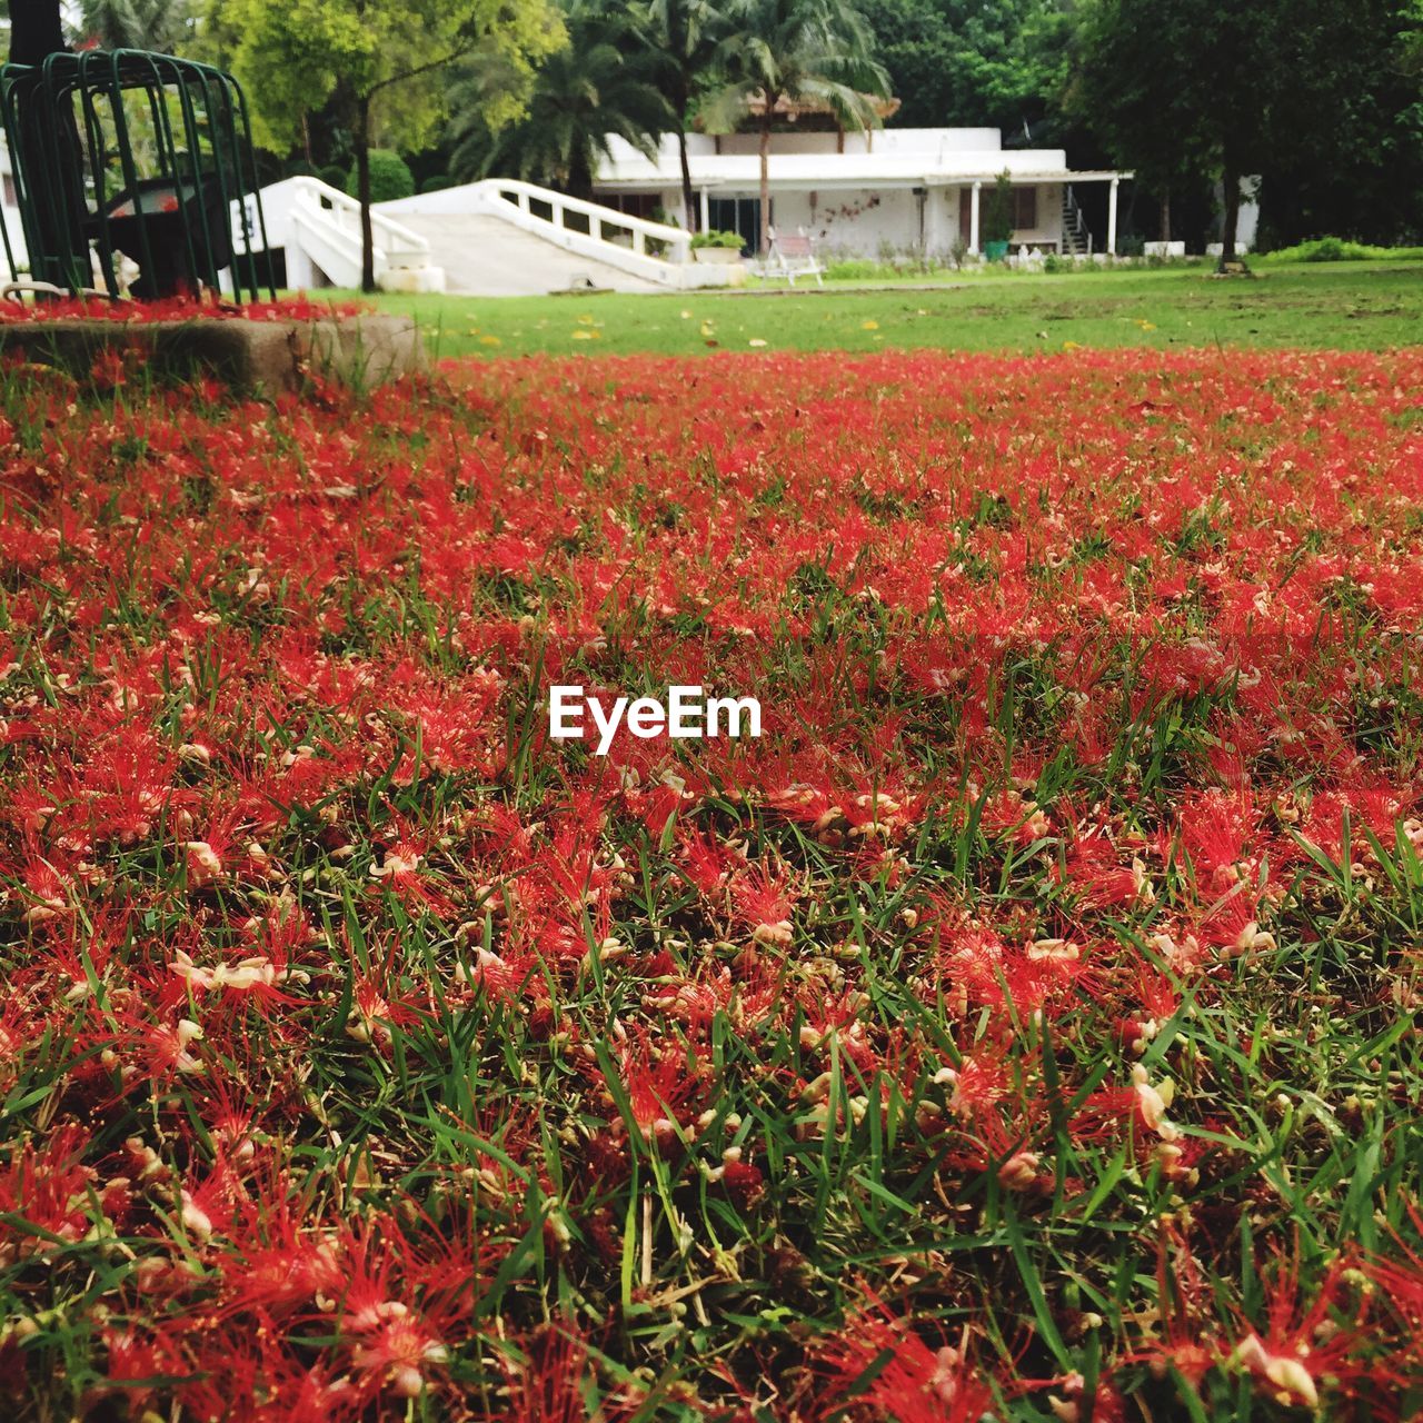
[[[761,255],[770,246],[771,129],[777,105],[828,108],[851,128],[874,128],[874,100],[889,75],[874,58],[874,36],[845,0],[733,0],[723,47],[730,80],[707,117],[716,127],[757,110],[761,134]]]

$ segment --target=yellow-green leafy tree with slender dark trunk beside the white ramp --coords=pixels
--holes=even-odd
[[[445,108],[440,71],[475,48],[528,68],[562,41],[546,0],[231,0],[232,67],[248,90],[259,141],[289,151],[302,115],[334,101],[351,125],[361,226],[361,290],[376,287],[370,149],[417,147]],[[394,91],[398,90],[398,102]]]

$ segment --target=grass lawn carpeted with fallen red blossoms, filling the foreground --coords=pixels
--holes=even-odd
[[[7,369],[0,1414],[1417,1414],[1423,350],[730,344]]]

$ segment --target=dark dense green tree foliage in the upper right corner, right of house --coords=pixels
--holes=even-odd
[[[1396,189],[1403,229],[1423,218],[1423,105],[1416,83],[1399,90],[1400,14],[1400,0],[1089,0],[1066,101],[1153,192],[1222,178],[1229,196],[1258,174],[1266,212],[1311,185],[1338,188],[1332,213],[1358,221],[1365,171]]]

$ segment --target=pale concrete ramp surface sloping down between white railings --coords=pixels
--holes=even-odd
[[[502,218],[404,211],[400,221],[430,243],[430,262],[444,269],[447,292],[542,296],[586,285],[613,292],[666,290],[596,258],[566,252]]]

